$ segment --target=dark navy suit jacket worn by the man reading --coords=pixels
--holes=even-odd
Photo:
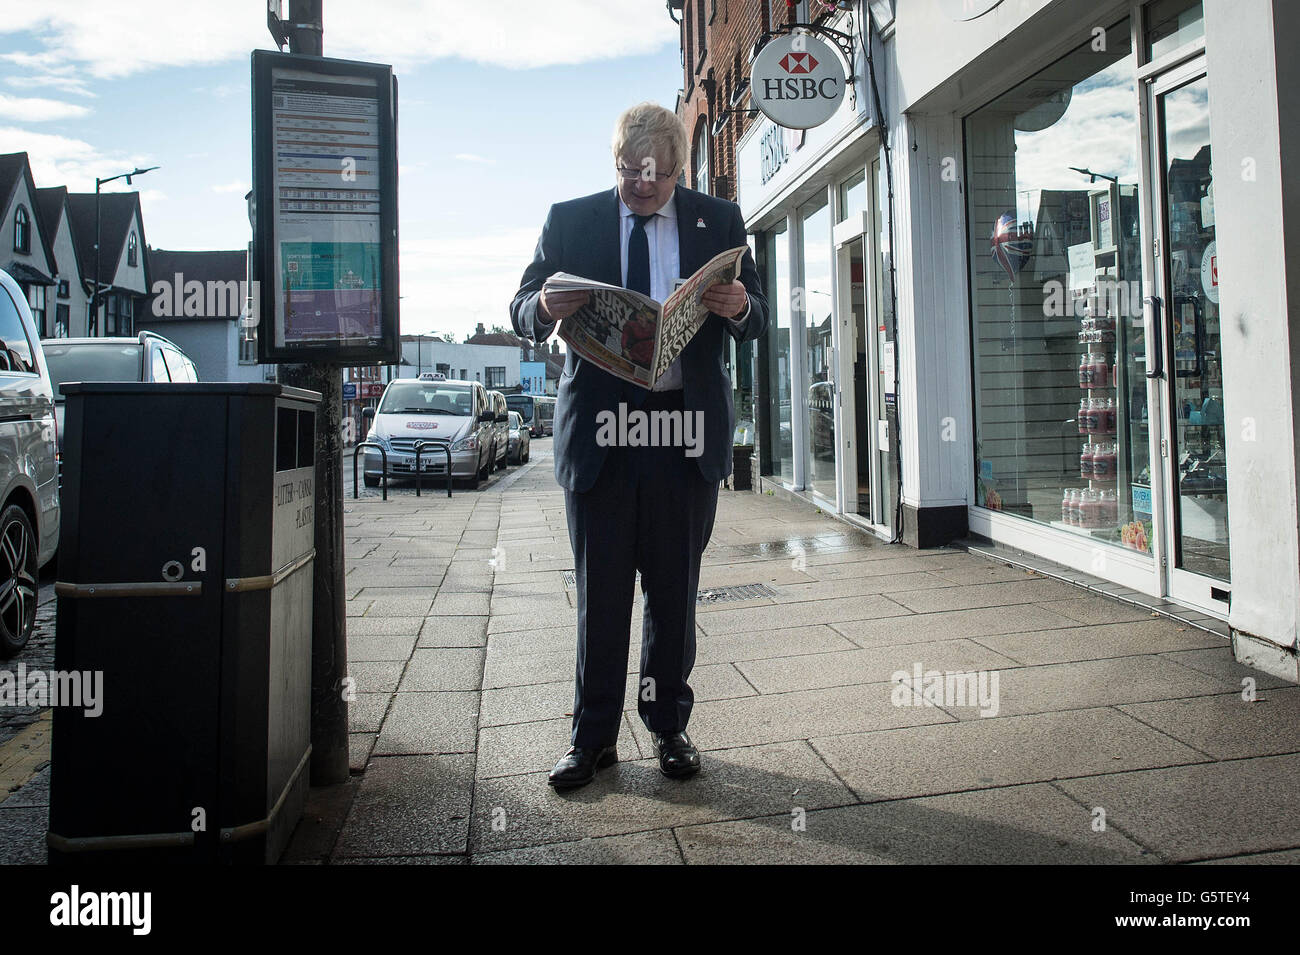
[[[677,205],[681,278],[689,278],[719,252],[745,244],[745,222],[736,203],[681,186],[675,190],[672,201]],[[698,225],[701,221],[703,226]],[[556,272],[621,286],[621,252],[616,188],[552,205],[533,261],[510,303],[515,331],[534,342],[550,334],[536,324],[537,301],[546,278]],[[722,481],[732,469],[736,412],[723,364],[725,335],[748,342],[767,329],[767,299],[754,257],[748,252],[741,262],[740,281],[749,291],[745,324],[737,330],[731,321],[710,314],[681,353],[685,409],[705,413],[703,452],[696,461],[708,481]],[[634,387],[568,352],[555,400],[555,478],[562,487],[585,491],[595,483],[607,451],[595,442],[597,414],[606,409],[618,413],[619,401],[627,400],[628,388]]]

